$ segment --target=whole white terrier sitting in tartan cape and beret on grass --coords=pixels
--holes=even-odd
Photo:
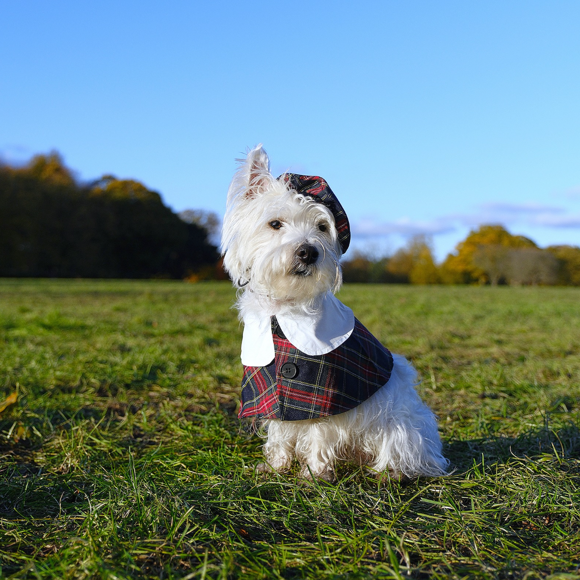
[[[324,179],[270,173],[248,151],[227,196],[224,267],[244,322],[240,418],[263,427],[261,472],[336,480],[338,461],[378,477],[447,473],[415,369],[391,354],[334,296],[350,226]]]

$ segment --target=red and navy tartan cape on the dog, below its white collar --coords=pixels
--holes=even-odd
[[[311,356],[292,346],[273,316],[274,360],[244,367],[241,418],[298,421],[338,415],[366,401],[387,383],[391,353],[358,321],[349,338],[327,354]],[[282,375],[291,363],[292,378]]]

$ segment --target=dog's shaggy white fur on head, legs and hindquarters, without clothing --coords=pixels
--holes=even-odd
[[[238,293],[240,316],[273,316],[316,308],[318,296],[342,284],[340,245],[329,209],[288,190],[270,173],[261,145],[251,150],[231,182],[222,230],[224,266]],[[270,225],[282,223],[278,230]],[[320,258],[304,266],[300,245]],[[332,481],[336,461],[354,461],[380,475],[441,476],[436,419],[415,391],[415,369],[394,355],[389,382],[371,398],[339,415],[302,421],[266,419],[263,469],[284,471],[296,457],[302,475]]]

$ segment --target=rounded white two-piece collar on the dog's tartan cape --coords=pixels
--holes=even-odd
[[[311,313],[276,315],[286,338],[298,350],[310,356],[327,354],[336,349],[353,332],[354,314],[332,292],[322,296]],[[268,314],[244,314],[242,364],[264,367],[274,359],[274,341]]]

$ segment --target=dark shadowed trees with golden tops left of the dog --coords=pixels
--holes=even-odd
[[[135,180],[80,183],[57,153],[0,165],[0,276],[213,277],[211,222]]]

